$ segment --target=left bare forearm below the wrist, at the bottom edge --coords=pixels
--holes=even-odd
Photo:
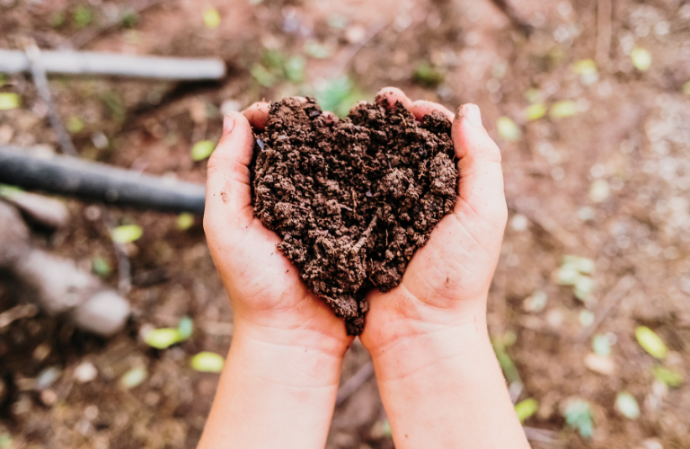
[[[341,356],[268,332],[236,330],[200,449],[325,445]]]

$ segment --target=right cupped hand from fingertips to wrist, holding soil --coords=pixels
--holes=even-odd
[[[386,108],[400,101],[416,119],[434,110],[445,114],[453,123],[459,180],[455,210],[414,254],[401,284],[367,296],[370,309],[361,340],[372,357],[456,326],[485,329],[486,299],[508,216],[500,150],[483,128],[476,105],[465,104],[453,114],[437,103],[411,101],[390,87],[376,101]]]

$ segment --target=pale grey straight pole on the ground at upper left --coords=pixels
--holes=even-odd
[[[91,51],[43,51],[47,73],[66,75],[114,75],[165,80],[217,80],[226,76],[226,64],[218,58],[142,57]],[[0,73],[31,71],[23,51],[0,49]]]

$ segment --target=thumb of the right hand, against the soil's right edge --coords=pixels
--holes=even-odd
[[[478,215],[492,224],[505,225],[508,210],[500,149],[484,129],[476,104],[467,103],[457,110],[451,136],[460,174],[456,214]]]

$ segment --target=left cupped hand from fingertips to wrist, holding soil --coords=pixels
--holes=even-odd
[[[253,215],[249,165],[252,125],[263,128],[268,103],[226,115],[208,160],[204,230],[233,305],[235,332],[269,343],[342,357],[351,337],[342,320],[311,293],[276,248],[280,238]]]

